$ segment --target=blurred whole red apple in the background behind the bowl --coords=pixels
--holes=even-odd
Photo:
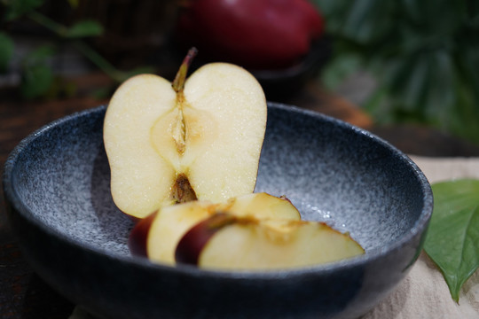
[[[307,0],[195,0],[180,14],[177,37],[202,56],[272,69],[294,65],[324,24]]]

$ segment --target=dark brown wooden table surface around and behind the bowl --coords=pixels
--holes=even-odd
[[[67,114],[107,103],[107,99],[89,97],[91,89],[106,87],[102,74],[75,79],[80,97],[47,101],[20,102],[0,91],[0,167],[20,140],[35,129]],[[479,149],[450,136],[420,127],[376,128],[373,121],[342,97],[309,84],[302,92],[288,98],[288,104],[325,113],[366,128],[389,140],[407,153],[427,156],[479,156]],[[2,194],[3,195],[3,194]],[[0,198],[0,318],[66,319],[74,304],[54,292],[23,259],[16,238],[8,227],[4,197]]]

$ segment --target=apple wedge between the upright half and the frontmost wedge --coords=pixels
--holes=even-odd
[[[255,207],[258,209],[255,210]],[[174,264],[175,249],[180,238],[192,226],[217,212],[255,216],[258,219],[301,219],[300,213],[289,200],[266,193],[247,194],[221,204],[191,201],[165,206],[138,222],[130,233],[130,251],[133,254],[147,256],[152,261]]]

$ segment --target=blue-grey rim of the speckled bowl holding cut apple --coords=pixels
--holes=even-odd
[[[43,126],[42,128],[35,130],[35,132],[25,137],[20,142],[20,144],[18,144],[14,148],[14,150],[10,153],[8,159],[5,161],[4,178],[3,178],[4,196],[5,198],[8,198],[10,200],[12,206],[14,206],[17,212],[22,214],[24,218],[26,218],[27,220],[35,222],[35,225],[41,230],[43,230],[45,233],[48,233],[54,237],[58,237],[59,240],[66,241],[70,245],[80,246],[82,249],[84,249],[85,251],[88,251],[89,253],[92,253],[93,255],[102,255],[114,261],[131,263],[141,268],[153,268],[153,269],[157,269],[158,271],[168,271],[168,272],[174,272],[174,273],[179,272],[188,276],[201,276],[201,277],[210,276],[210,277],[216,277],[216,278],[224,277],[229,279],[241,279],[241,280],[245,280],[245,279],[255,280],[255,278],[261,278],[263,280],[277,280],[277,279],[285,278],[285,277],[291,278],[294,276],[309,276],[311,274],[315,274],[316,276],[318,275],[327,276],[328,274],[340,268],[343,270],[347,270],[348,268],[364,266],[365,264],[368,263],[368,261],[381,259],[381,257],[383,257],[384,255],[387,255],[391,252],[401,249],[401,247],[403,247],[408,242],[410,242],[413,237],[416,237],[418,234],[427,230],[428,222],[430,220],[432,210],[433,210],[432,190],[426,176],[422,173],[420,168],[412,161],[412,159],[410,159],[407,155],[399,151],[395,146],[389,144],[389,142],[383,140],[379,136],[373,135],[373,133],[365,130],[364,128],[358,128],[352,124],[349,124],[348,122],[335,119],[325,114],[317,113],[310,110],[305,110],[294,105],[284,105],[284,104],[271,103],[271,102],[268,103],[268,107],[277,108],[279,110],[284,110],[287,112],[302,113],[308,116],[318,117],[324,121],[334,122],[336,125],[341,126],[342,128],[352,129],[356,131],[357,134],[364,135],[370,139],[375,140],[377,143],[382,144],[386,148],[389,148],[395,155],[399,156],[401,159],[404,159],[404,161],[406,161],[408,165],[412,167],[414,174],[420,180],[421,191],[423,192],[422,198],[423,198],[424,205],[422,207],[420,217],[414,223],[414,226],[412,227],[412,229],[406,235],[400,237],[397,241],[390,243],[389,245],[384,245],[381,248],[368,250],[367,253],[365,253],[364,255],[361,255],[349,260],[337,261],[337,262],[329,263],[326,265],[316,265],[316,266],[304,267],[304,268],[292,268],[292,269],[285,269],[285,270],[279,270],[279,271],[270,270],[270,271],[251,271],[251,272],[249,271],[231,272],[231,271],[201,269],[191,265],[177,265],[175,267],[171,267],[168,265],[153,263],[151,261],[148,261],[146,258],[122,256],[119,254],[107,253],[106,251],[101,250],[95,246],[85,245],[82,242],[74,240],[72,237],[68,237],[64,235],[58,230],[54,230],[48,227],[43,222],[39,222],[35,218],[35,214],[29,212],[27,207],[23,205],[20,198],[18,197],[18,193],[15,190],[15,185],[12,185],[11,183],[12,168],[15,166],[16,159],[20,155],[20,152],[22,152],[22,150],[27,146],[27,144],[30,144],[32,141],[35,140],[35,138],[37,138],[38,136],[41,136],[43,132],[48,131],[49,129],[56,127],[64,122],[72,121],[79,116],[85,116],[85,115],[88,115],[89,113],[104,112],[104,110],[106,110],[106,105],[100,105],[98,107],[91,108],[82,112],[72,113],[59,120],[52,121],[51,123]]]

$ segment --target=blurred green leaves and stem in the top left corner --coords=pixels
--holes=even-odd
[[[64,26],[50,19],[41,12],[47,0],[0,0],[0,73],[6,72],[13,58],[15,41],[8,33],[8,26],[16,20],[27,19],[38,27],[49,32],[46,44],[41,44],[22,59],[20,63],[20,96],[26,99],[37,97],[54,97],[58,92],[73,92],[70,83],[63,82],[56,77],[51,68],[51,58],[58,54],[60,45],[70,45],[90,62],[98,66],[115,82],[123,82],[133,74],[150,71],[149,67],[138,67],[131,71],[121,71],[101,57],[85,41],[90,37],[103,35],[103,27],[98,21],[82,19],[75,21],[71,26]],[[65,1],[65,0],[64,0]],[[78,1],[68,0],[72,10]],[[61,88],[59,88],[61,86]],[[53,92],[53,93],[52,93]]]

